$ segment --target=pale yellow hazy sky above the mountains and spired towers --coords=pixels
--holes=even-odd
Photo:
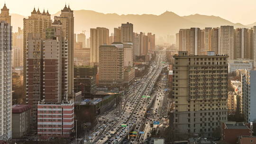
[[[49,9],[51,14],[62,9],[65,2],[71,9],[94,10],[117,14],[155,14],[173,11],[180,16],[214,15],[233,23],[256,22],[256,0],[5,0],[10,13],[30,15],[34,6]],[[3,1],[2,1],[3,2]],[[0,4],[0,7],[3,3]]]

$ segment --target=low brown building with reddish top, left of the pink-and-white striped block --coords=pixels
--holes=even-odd
[[[29,105],[12,106],[12,138],[20,138],[30,131],[30,111]]]

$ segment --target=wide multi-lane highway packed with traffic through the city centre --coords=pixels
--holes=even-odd
[[[130,86],[126,99],[121,103],[123,106],[119,109],[118,115],[112,111],[99,117],[101,120],[108,119],[108,122],[98,126],[97,133],[91,140],[93,144],[122,144],[125,140],[135,144],[142,140],[142,134],[138,133],[145,129],[146,110],[155,101],[155,98],[159,97],[152,91],[162,71],[163,64],[161,62],[165,58],[164,56],[163,53],[157,54],[155,62],[152,62],[147,74]],[[152,96],[150,96],[151,93]],[[155,105],[158,107],[160,105],[158,103],[163,102],[156,101]]]

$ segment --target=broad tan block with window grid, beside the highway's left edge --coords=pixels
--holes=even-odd
[[[123,86],[125,70],[123,46],[120,42],[100,46],[99,86]]]

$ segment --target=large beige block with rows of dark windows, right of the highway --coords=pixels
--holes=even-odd
[[[174,127],[183,133],[210,135],[227,121],[228,56],[174,56]]]

